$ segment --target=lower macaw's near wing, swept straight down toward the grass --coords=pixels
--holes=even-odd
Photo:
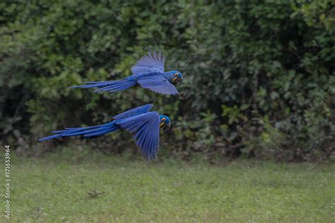
[[[143,157],[155,159],[155,153],[159,145],[160,124],[157,111],[133,116],[124,121],[119,121],[117,124],[134,135],[136,144],[141,147]]]

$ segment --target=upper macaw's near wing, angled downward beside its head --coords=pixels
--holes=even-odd
[[[137,83],[141,85],[142,88],[158,92],[165,95],[179,95],[175,85],[172,85],[170,81],[162,76],[153,76],[150,78],[142,78],[137,80]]]

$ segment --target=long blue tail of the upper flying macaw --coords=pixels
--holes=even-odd
[[[100,91],[117,92],[119,90],[126,90],[127,88],[136,85],[136,79],[133,77],[128,77],[121,80],[93,81],[83,83],[85,85],[71,86],[70,88],[99,88],[93,92],[100,92]]]

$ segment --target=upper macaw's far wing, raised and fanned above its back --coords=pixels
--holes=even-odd
[[[160,52],[148,53],[148,56],[143,56],[131,68],[133,74],[148,73],[148,72],[164,72],[165,56]]]

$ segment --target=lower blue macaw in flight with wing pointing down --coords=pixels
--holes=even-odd
[[[135,109],[124,111],[113,117],[113,121],[100,126],[90,126],[83,128],[65,128],[61,131],[53,131],[56,135],[40,138],[39,141],[51,140],[66,136],[83,135],[83,137],[93,137],[105,135],[119,129],[126,129],[134,135],[136,144],[141,147],[143,157],[155,159],[155,153],[159,145],[160,128],[163,131],[170,129],[171,121],[168,116],[158,114],[158,111],[150,111],[153,104],[146,104]]]

